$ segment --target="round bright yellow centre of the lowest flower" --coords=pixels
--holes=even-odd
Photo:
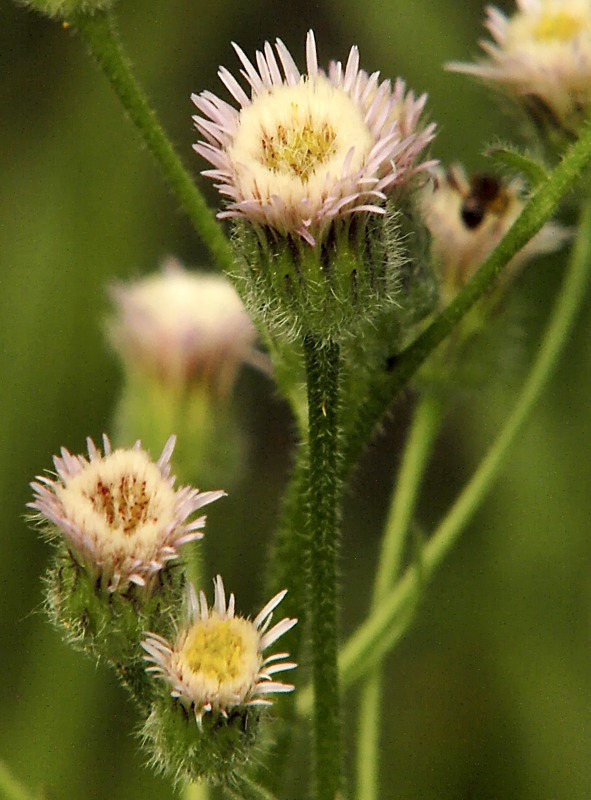
[[[193,626],[181,651],[184,663],[204,678],[220,684],[235,681],[244,672],[246,641],[240,623],[211,617]]]

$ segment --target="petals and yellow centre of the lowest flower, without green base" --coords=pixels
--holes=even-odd
[[[269,695],[294,688],[273,678],[296,666],[284,660],[288,654],[263,656],[297,622],[285,618],[269,628],[286,591],[276,594],[251,621],[235,615],[234,595],[226,601],[219,575],[214,586],[212,607],[203,592],[197,600],[189,587],[187,618],[174,644],[155,633],[142,642],[150,663],[147,671],[166,681],[171,696],[192,710],[199,727],[206,713],[227,716],[238,706],[271,705]]]

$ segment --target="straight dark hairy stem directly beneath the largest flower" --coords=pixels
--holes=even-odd
[[[308,384],[306,555],[312,631],[316,797],[341,788],[341,722],[337,668],[338,381],[340,348],[304,338]]]

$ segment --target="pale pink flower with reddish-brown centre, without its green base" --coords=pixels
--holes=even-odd
[[[54,457],[57,476],[37,476],[28,506],[40,521],[51,523],[52,538],[65,537],[73,558],[103,587],[147,586],[179,557],[181,545],[203,536],[205,517],[190,517],[225,492],[174,488],[174,436],[156,463],[139,442],[119,450],[111,449],[107,436],[103,443],[101,454],[87,440],[88,459],[62,448],[61,456]]]

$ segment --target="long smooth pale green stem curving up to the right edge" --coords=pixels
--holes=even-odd
[[[451,550],[472,515],[492,488],[509,449],[527,421],[564,350],[574,321],[582,308],[591,273],[591,206],[581,212],[577,240],[570,258],[552,318],[515,407],[468,485],[424,548],[421,568],[409,567],[388,592],[380,607],[366,620],[341,650],[339,658],[343,687],[349,687],[404,635],[412,614],[419,582],[429,580]],[[305,715],[312,705],[311,691],[302,690],[298,711]]]

